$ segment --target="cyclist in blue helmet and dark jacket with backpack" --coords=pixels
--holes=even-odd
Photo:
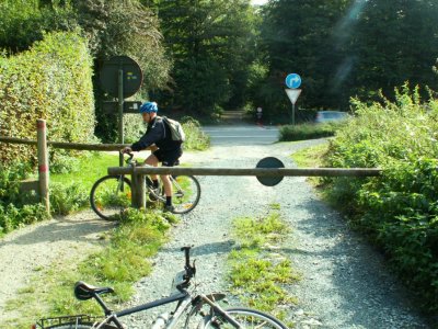
[[[140,140],[131,146],[125,147],[120,152],[140,151],[148,147],[151,148],[151,155],[145,160],[145,163],[157,167],[159,162],[164,167],[173,167],[183,155],[182,141],[173,140],[172,134],[163,120],[157,115],[158,105],[155,102],[146,102],[140,106],[140,113],[148,128]],[[165,211],[172,211],[172,184],[168,174],[160,175],[164,186]],[[159,186],[158,177],[151,175],[153,186]]]

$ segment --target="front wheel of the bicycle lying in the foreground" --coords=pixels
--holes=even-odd
[[[276,328],[288,329],[277,318],[263,311],[252,308],[228,308],[227,314],[238,321],[242,328]],[[220,315],[209,315],[204,318],[198,329],[205,328],[234,328],[224,317]]]

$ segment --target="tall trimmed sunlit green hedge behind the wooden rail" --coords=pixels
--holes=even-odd
[[[0,135],[36,139],[36,120],[45,118],[49,140],[92,141],[91,77],[92,58],[78,33],[46,34],[30,50],[0,57]],[[4,166],[35,157],[23,145],[5,145],[0,154]]]

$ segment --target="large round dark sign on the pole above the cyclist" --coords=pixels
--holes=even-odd
[[[140,66],[128,56],[114,56],[103,64],[102,88],[112,97],[118,97],[118,72],[123,70],[123,97],[129,98],[141,87],[143,73]]]

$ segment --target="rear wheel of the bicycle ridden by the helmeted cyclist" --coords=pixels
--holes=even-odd
[[[174,214],[185,214],[193,211],[200,198],[200,185],[193,175],[171,177],[172,181],[172,202]]]

